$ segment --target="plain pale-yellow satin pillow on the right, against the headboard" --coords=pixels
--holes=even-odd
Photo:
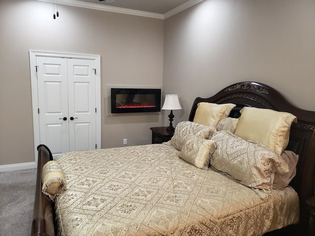
[[[244,107],[235,134],[244,139],[263,143],[281,154],[289,142],[290,127],[297,118],[287,112]]]

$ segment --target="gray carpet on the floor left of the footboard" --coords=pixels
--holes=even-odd
[[[0,172],[0,235],[31,235],[36,169]]]

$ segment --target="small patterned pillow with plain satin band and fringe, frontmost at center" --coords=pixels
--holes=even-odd
[[[216,148],[215,141],[189,134],[184,139],[179,157],[199,169],[208,170],[211,155]]]

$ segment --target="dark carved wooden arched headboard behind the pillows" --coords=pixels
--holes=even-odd
[[[299,227],[306,232],[310,218],[306,199],[314,196],[315,193],[315,111],[300,109],[291,104],[276,89],[256,82],[236,83],[222,89],[212,97],[197,97],[193,103],[189,121],[193,121],[199,102],[234,103],[236,107],[229,115],[233,118],[240,116],[239,111],[244,106],[289,112],[297,117],[297,123],[293,123],[291,126],[289,144],[286,149],[299,155],[296,176],[290,185],[299,195]],[[304,234],[301,233],[301,235]]]

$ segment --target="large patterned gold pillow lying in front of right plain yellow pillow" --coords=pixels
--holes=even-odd
[[[216,132],[217,144],[210,165],[252,188],[259,198],[271,197],[273,173],[287,173],[289,167],[280,155],[265,145],[243,139],[229,131]]]

